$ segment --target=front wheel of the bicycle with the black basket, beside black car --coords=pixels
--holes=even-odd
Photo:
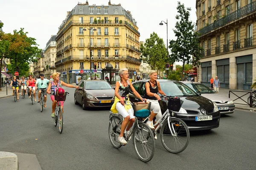
[[[160,130],[163,147],[170,153],[181,153],[189,144],[189,129],[179,118],[169,118],[169,121],[170,124],[164,121]]]

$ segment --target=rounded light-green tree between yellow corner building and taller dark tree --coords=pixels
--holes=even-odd
[[[166,46],[163,39],[157,33],[150,34],[150,38],[145,40],[145,44],[140,46],[141,59],[148,63],[151,69],[163,71],[167,59]]]

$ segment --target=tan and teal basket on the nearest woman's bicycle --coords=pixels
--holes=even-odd
[[[137,102],[132,105],[134,109],[134,116],[137,118],[146,118],[150,115],[151,103]]]

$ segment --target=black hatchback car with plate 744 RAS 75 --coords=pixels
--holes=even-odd
[[[135,81],[133,83],[136,91],[143,97],[145,94],[145,83],[148,80]],[[172,80],[157,80],[160,87],[168,96],[180,97],[183,101],[182,107],[176,117],[187,124],[189,130],[210,130],[219,127],[220,112],[217,105],[207,98],[195,93],[185,84]],[[131,101],[137,98],[132,91],[129,93]],[[166,101],[159,101],[162,114],[166,111]]]

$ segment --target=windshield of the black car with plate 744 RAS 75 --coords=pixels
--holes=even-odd
[[[160,87],[168,96],[197,96],[197,94],[180,82],[160,82]]]

